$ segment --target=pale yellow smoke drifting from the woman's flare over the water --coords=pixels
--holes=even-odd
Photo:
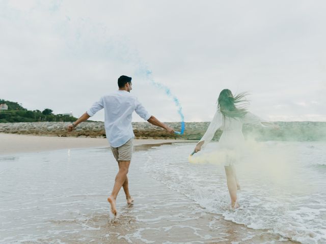
[[[234,160],[238,176],[241,178],[263,179],[279,187],[290,187],[293,190],[306,188],[303,184],[293,186],[293,178],[303,172],[296,169],[297,148],[293,143],[284,142],[256,142],[247,140],[241,149],[235,150],[219,148],[213,151],[202,150],[194,156],[189,156],[192,164],[225,165]]]

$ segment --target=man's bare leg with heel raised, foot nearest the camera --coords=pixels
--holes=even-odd
[[[107,198],[107,201],[111,204],[112,214],[117,215],[116,209],[116,199],[121,187],[124,185],[127,179],[127,173],[129,170],[130,161],[119,161],[119,172],[116,175],[115,184],[112,190],[110,197]]]

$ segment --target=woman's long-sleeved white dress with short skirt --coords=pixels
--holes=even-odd
[[[223,162],[220,163],[230,166],[238,163],[239,157],[243,154],[244,137],[242,125],[248,123],[263,126],[261,122],[265,121],[250,112],[242,118],[231,118],[224,116],[220,110],[217,110],[206,133],[199,142],[204,141],[202,145],[204,148],[213,139],[216,130],[221,129],[223,133],[220,137],[218,150],[220,153],[224,153],[224,157],[221,157]]]

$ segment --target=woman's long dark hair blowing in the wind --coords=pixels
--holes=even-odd
[[[231,90],[223,89],[218,99],[218,108],[224,117],[242,118],[246,115],[249,104],[247,93],[240,93],[233,97]]]

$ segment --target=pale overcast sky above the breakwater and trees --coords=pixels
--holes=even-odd
[[[265,119],[326,121],[325,13],[308,0],[0,0],[0,98],[78,117],[124,74],[151,114],[180,121],[149,69],[185,121],[210,120],[224,88]]]

